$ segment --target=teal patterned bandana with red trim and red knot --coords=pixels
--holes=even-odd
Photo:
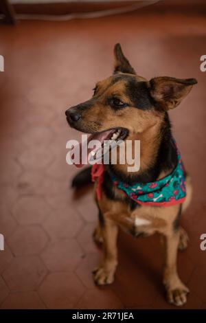
[[[170,206],[183,203],[186,197],[185,170],[177,148],[176,152],[176,167],[169,175],[162,179],[150,183],[135,183],[130,186],[123,181],[119,181],[114,175],[111,175],[113,184],[139,205]],[[97,179],[96,194],[98,200],[102,197],[103,177],[104,166],[102,164],[93,165],[91,178],[92,181]]]

